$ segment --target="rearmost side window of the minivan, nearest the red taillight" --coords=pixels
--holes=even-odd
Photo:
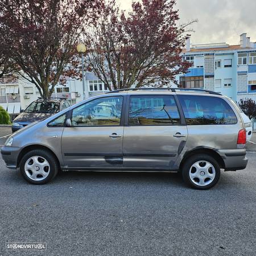
[[[222,98],[178,95],[187,125],[233,125],[236,114]]]

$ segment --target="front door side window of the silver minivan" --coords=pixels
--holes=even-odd
[[[119,126],[123,97],[104,97],[73,109],[72,126]]]

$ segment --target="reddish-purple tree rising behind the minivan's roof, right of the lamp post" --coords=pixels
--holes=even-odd
[[[175,1],[142,0],[132,10],[120,11],[115,0],[102,3],[101,15],[84,36],[90,48],[87,69],[93,71],[111,90],[175,81],[175,75],[190,67],[183,61],[186,29],[181,26]]]

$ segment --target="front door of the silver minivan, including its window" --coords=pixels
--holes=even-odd
[[[61,139],[65,168],[122,167],[123,98],[96,98],[71,110]]]

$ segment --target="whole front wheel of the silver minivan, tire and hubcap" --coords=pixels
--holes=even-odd
[[[20,172],[32,184],[46,184],[58,172],[59,164],[55,156],[47,150],[31,150],[20,160]]]

